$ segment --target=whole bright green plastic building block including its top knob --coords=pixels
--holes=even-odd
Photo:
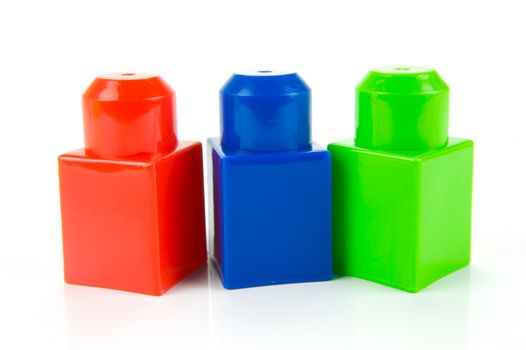
[[[357,137],[328,147],[337,274],[417,292],[469,264],[473,143],[447,136],[448,92],[413,67],[358,86]]]

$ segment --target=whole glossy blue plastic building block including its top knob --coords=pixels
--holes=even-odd
[[[228,289],[332,278],[330,153],[297,74],[234,75],[208,141],[213,259]]]

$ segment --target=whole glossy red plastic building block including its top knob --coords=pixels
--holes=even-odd
[[[158,76],[101,76],[83,101],[86,147],[59,157],[65,280],[161,295],[207,260],[201,144],[177,142]]]

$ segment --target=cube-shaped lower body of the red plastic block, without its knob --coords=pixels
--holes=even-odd
[[[202,147],[130,160],[59,157],[65,279],[160,295],[206,260]]]

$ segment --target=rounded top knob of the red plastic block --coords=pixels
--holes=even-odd
[[[128,157],[177,146],[175,93],[158,75],[98,76],[82,96],[86,152]]]

